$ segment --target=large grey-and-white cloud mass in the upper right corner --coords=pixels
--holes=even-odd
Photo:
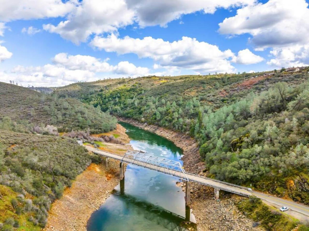
[[[302,66],[308,62],[309,8],[305,0],[269,0],[237,10],[233,17],[219,23],[222,34],[248,33],[256,48],[272,48],[274,67]]]

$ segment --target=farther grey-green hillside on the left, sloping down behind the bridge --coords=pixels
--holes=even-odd
[[[11,122],[9,118],[14,121]],[[3,121],[3,119],[5,121]],[[25,87],[0,82],[0,129],[47,134],[87,130],[108,132],[116,128],[116,118],[77,99],[60,99]],[[3,124],[5,122],[5,125]],[[6,126],[6,127],[4,127]]]

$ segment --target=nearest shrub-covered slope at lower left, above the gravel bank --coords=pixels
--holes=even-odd
[[[50,204],[90,163],[71,138],[0,130],[1,230],[40,230]]]

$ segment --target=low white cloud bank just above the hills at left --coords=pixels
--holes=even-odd
[[[110,65],[92,56],[68,55],[59,53],[53,58],[53,64],[36,67],[18,65],[11,70],[11,79],[35,86],[62,86],[78,81],[95,81],[98,74],[120,77],[120,75],[148,75],[149,69],[136,67],[128,61]],[[7,75],[8,76],[8,75]]]

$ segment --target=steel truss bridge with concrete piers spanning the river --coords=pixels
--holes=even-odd
[[[101,155],[103,157],[113,158],[121,161],[120,164],[120,175],[124,176],[124,170],[122,163],[133,164],[136,166],[141,166],[143,168],[148,168],[150,170],[157,171],[162,174],[170,175],[176,177],[177,179],[182,179],[187,182],[196,182],[199,184],[203,184],[206,186],[210,186],[214,188],[215,196],[219,198],[219,190],[224,190],[227,192],[235,193],[242,196],[251,196],[252,190],[251,188],[242,187],[239,185],[219,181],[216,179],[211,179],[208,177],[203,177],[197,174],[188,173],[181,166],[180,162],[165,159],[161,157],[151,156],[147,153],[135,152],[135,151],[127,151],[124,156],[108,153],[101,151],[99,149],[92,148],[90,146],[86,146],[89,151],[92,151],[95,154]],[[121,179],[123,178],[121,177]],[[189,185],[188,183],[186,185]],[[186,197],[188,200],[187,204],[190,204],[190,190],[189,186],[186,187]]]

